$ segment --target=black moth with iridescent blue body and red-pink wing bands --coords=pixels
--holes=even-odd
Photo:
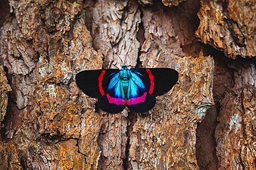
[[[145,113],[155,106],[155,96],[167,93],[179,74],[169,68],[86,70],[76,74],[76,84],[89,97],[98,98],[98,107],[120,113],[125,107]]]

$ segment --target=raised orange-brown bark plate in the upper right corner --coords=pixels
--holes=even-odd
[[[202,0],[200,25],[195,34],[204,44],[223,51],[226,57],[255,57],[255,9],[254,0]]]

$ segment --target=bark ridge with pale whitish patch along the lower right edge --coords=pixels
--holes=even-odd
[[[219,169],[255,169],[256,70],[254,63],[217,63],[216,100],[220,104],[215,130]],[[227,69],[232,71],[227,72]],[[230,79],[231,78],[231,79]],[[226,87],[225,87],[226,85]]]

